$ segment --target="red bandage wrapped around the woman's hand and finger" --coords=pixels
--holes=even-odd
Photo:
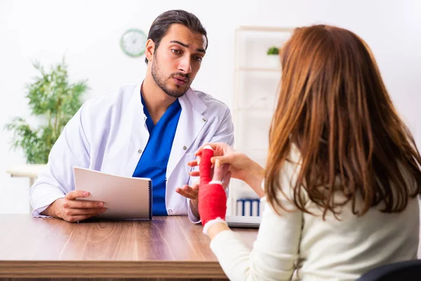
[[[211,181],[210,158],[213,149],[210,146],[203,148],[199,163],[199,214],[203,226],[215,218],[225,220],[227,213],[227,195],[220,181]]]

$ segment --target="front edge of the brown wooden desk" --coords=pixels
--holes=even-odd
[[[0,277],[227,278],[217,261],[0,261]]]

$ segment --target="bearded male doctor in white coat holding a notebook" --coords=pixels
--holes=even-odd
[[[198,186],[187,163],[203,143],[234,143],[227,105],[190,88],[207,46],[192,13],[159,15],[148,34],[145,79],[81,106],[30,190],[32,215],[76,222],[107,211],[103,202],[78,200],[88,196],[74,187],[73,168],[81,166],[152,178],[154,216],[187,214],[199,222]]]

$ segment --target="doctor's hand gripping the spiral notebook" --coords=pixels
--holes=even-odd
[[[64,198],[55,200],[42,214],[75,223],[104,213],[105,208],[103,202],[77,200],[77,198],[88,196],[89,192],[73,190],[67,193]]]

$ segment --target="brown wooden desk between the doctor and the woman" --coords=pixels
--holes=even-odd
[[[227,278],[186,216],[67,223],[0,214],[1,278]],[[257,230],[236,229],[251,247]]]

